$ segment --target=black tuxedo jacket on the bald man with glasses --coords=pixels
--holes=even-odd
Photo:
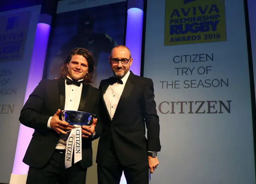
[[[109,149],[111,139],[121,164],[128,166],[147,161],[148,151],[158,152],[161,149],[153,82],[150,78],[140,77],[130,72],[113,119],[110,119],[103,99],[109,85],[110,79],[105,79],[99,86],[103,130],[98,143],[96,162],[105,161],[106,150]]]

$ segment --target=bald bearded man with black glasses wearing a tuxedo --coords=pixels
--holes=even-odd
[[[114,47],[109,57],[114,76],[100,82],[104,125],[96,158],[98,184],[119,184],[123,171],[127,184],[148,184],[149,172],[159,164],[153,82],[133,74],[132,61],[127,47]]]

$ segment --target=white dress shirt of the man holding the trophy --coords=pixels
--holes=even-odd
[[[70,77],[68,77],[68,78],[70,78]],[[80,80],[78,80],[78,81],[80,81]],[[80,86],[76,86],[74,84],[68,85],[65,80],[65,108],[64,108],[64,110],[74,110],[74,111],[78,110],[78,107],[80,104],[80,98],[81,98],[81,94],[82,94],[82,88],[83,88],[83,84],[81,84]],[[52,119],[52,116],[48,119],[48,124],[47,124],[48,128],[51,128],[50,127],[51,119]],[[66,136],[65,134],[60,135],[61,139],[59,140],[59,142],[56,146],[56,149],[66,149],[66,141],[64,140],[65,136]]]

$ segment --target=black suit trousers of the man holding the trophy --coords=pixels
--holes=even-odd
[[[46,166],[41,169],[30,167],[26,184],[85,184],[87,168],[80,163],[65,168],[65,153],[54,151]]]

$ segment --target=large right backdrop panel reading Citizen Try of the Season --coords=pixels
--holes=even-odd
[[[160,164],[151,184],[255,184],[243,0],[148,0]]]

